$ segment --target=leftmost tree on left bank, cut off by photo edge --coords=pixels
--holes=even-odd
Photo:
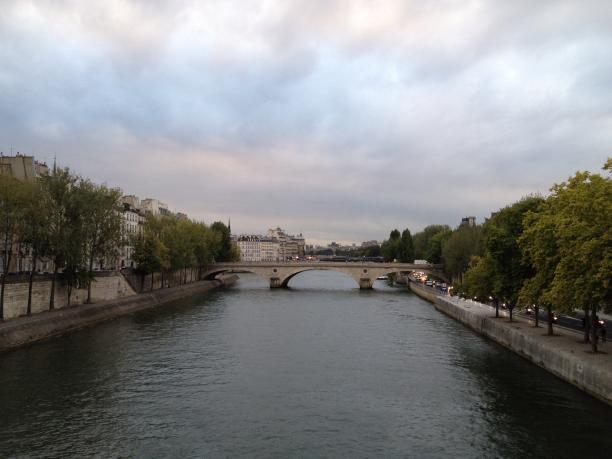
[[[2,237],[2,283],[0,285],[0,320],[4,320],[4,292],[11,269],[15,241],[23,222],[24,182],[0,174],[0,235]]]

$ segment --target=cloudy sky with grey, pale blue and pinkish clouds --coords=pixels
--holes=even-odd
[[[0,0],[0,150],[236,233],[479,220],[612,155],[609,0]]]

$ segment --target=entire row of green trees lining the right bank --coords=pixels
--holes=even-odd
[[[607,175],[577,172],[554,185],[548,196],[526,196],[494,212],[483,224],[431,225],[403,241],[393,230],[381,245],[387,260],[440,263],[456,294],[492,302],[496,317],[504,304],[584,311],[584,341],[597,351],[598,311],[612,309],[612,159]],[[406,250],[408,248],[408,250]],[[411,259],[412,258],[412,259]]]

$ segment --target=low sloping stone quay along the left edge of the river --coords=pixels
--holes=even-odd
[[[143,309],[161,306],[188,296],[227,287],[238,276],[223,276],[177,287],[117,298],[94,304],[46,311],[0,323],[0,352],[89,327]]]

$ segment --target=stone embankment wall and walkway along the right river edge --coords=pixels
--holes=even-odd
[[[548,336],[545,328],[534,328],[528,321],[495,318],[491,309],[480,303],[441,296],[414,282],[409,282],[409,287],[438,311],[612,406],[610,343],[593,354],[580,334],[557,328],[554,336]]]

